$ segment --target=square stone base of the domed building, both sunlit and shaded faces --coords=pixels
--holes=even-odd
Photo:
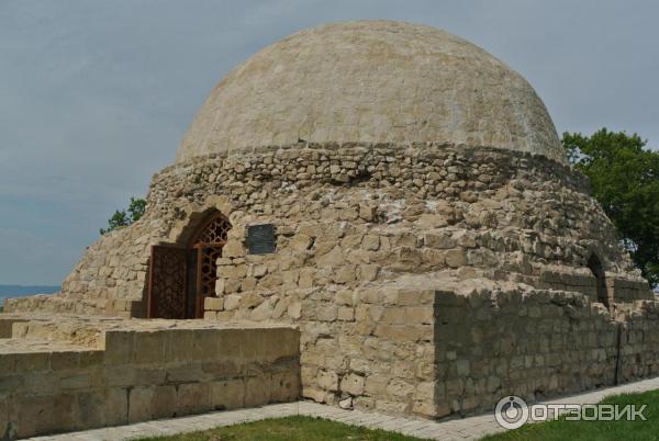
[[[226,298],[208,299],[209,318],[300,326],[302,396],[321,403],[442,418],[659,374],[654,301],[612,315],[589,294],[528,287],[310,287],[256,308]]]

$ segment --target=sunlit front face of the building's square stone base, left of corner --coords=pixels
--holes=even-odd
[[[223,310],[208,310],[206,319],[267,316],[297,324],[303,397],[390,414],[439,416],[435,411],[434,290],[335,287],[287,291],[256,308],[248,296],[227,297]],[[216,301],[206,299],[208,306],[216,307]]]

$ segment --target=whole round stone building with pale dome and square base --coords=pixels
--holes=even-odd
[[[541,100],[433,27],[261,49],[147,202],[7,310],[292,324],[303,397],[429,418],[659,372],[659,307]]]

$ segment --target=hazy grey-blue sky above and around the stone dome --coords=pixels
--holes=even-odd
[[[659,2],[0,0],[0,284],[59,284],[237,64],[344,20],[442,27],[521,72],[559,133],[659,146]]]

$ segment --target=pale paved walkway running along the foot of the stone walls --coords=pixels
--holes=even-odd
[[[617,387],[607,387],[584,394],[571,395],[569,397],[552,399],[545,403],[595,404],[610,395],[654,389],[659,389],[659,377],[628,383]],[[485,434],[503,431],[494,420],[493,412],[463,419],[435,422],[423,419],[392,417],[361,410],[343,410],[333,406],[309,402],[297,402],[268,405],[252,409],[215,411],[190,417],[163,419],[52,437],[37,437],[32,438],[32,440],[119,441],[206,430],[214,427],[257,421],[266,418],[288,417],[292,415],[322,417],[334,421],[345,422],[347,425],[391,430],[412,437],[435,440],[477,440]]]

